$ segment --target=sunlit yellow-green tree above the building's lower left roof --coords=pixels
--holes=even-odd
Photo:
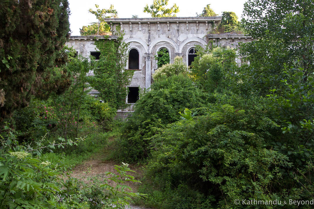
[[[110,26],[104,21],[105,18],[118,18],[117,11],[110,5],[109,9],[99,9],[99,5],[95,4],[96,11],[89,9],[89,13],[96,16],[98,22],[83,26],[80,29],[81,35],[108,35],[110,33]],[[109,14],[109,15],[108,15]]]

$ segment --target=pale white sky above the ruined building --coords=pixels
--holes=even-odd
[[[95,15],[88,12],[89,8],[95,10],[95,4],[98,4],[100,9],[108,9],[110,4],[113,4],[119,18],[132,18],[132,15],[138,15],[138,18],[150,18],[150,14],[143,13],[143,9],[146,4],[150,6],[153,0],[68,0],[68,2],[71,11],[69,18],[71,35],[80,35],[79,29],[83,25],[96,22]],[[210,4],[215,13],[221,15],[222,12],[235,12],[240,20],[245,2],[246,0],[169,0],[167,8],[176,3],[180,10],[176,14],[177,17],[195,17],[196,13],[202,13],[203,8]]]

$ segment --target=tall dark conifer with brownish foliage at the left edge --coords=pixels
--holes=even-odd
[[[0,120],[27,106],[32,95],[46,97],[68,86],[65,71],[51,78],[66,59],[69,13],[67,0],[0,2]]]

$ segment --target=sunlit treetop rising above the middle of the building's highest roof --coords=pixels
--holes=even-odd
[[[176,17],[176,13],[179,12],[179,7],[173,4],[171,8],[165,8],[168,5],[169,0],[153,0],[153,4],[148,7],[148,4],[144,7],[146,13],[150,13],[152,18],[163,17]]]

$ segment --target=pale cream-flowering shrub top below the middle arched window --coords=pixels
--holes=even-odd
[[[154,81],[158,81],[162,77],[171,77],[174,75],[187,75],[187,65],[183,63],[183,58],[176,56],[172,64],[167,63],[159,67],[153,74]]]

